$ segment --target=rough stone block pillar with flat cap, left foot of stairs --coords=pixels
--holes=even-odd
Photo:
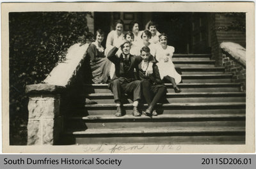
[[[54,145],[62,131],[58,87],[47,84],[28,85],[28,145]],[[55,93],[54,93],[55,92]]]

